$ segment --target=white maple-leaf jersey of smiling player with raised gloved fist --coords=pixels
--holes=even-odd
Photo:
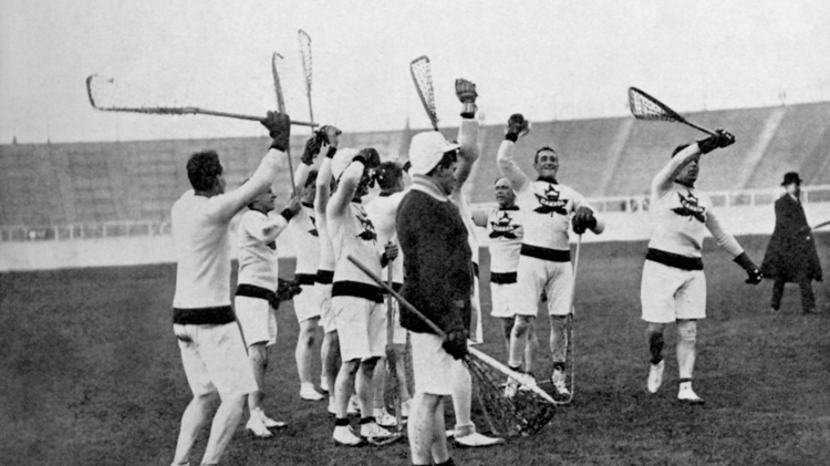
[[[516,205],[522,213],[522,244],[560,251],[570,250],[568,231],[571,228],[571,214],[580,207],[588,207],[594,214],[596,210],[569,186],[543,179],[529,180],[512,158],[513,146],[510,141],[501,143],[498,164],[501,173],[512,183]],[[598,231],[604,225],[601,221],[596,217]]]

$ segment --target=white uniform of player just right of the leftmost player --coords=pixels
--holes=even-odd
[[[279,255],[276,239],[288,225],[279,214],[248,210],[237,228],[239,277],[234,304],[245,342],[277,342],[277,317],[269,296],[277,290]]]

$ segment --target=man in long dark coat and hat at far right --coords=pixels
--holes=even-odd
[[[772,312],[781,306],[784,284],[796,282],[801,288],[801,307],[806,314],[816,313],[812,280],[821,281],[821,265],[816,244],[801,207],[801,178],[796,172],[784,175],[781,185],[787,194],[776,200],[776,228],[767,246],[761,273],[775,279]]]

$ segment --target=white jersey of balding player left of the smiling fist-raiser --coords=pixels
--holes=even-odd
[[[510,273],[519,269],[519,250],[525,236],[520,213],[518,207],[474,213],[476,225],[483,226],[490,238],[491,273]]]

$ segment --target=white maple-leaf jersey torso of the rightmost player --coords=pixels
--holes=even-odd
[[[668,189],[652,189],[651,215],[654,220],[649,248],[699,258],[706,230],[733,256],[743,249],[735,238],[720,228],[712,211],[712,200],[694,187],[673,183]]]

